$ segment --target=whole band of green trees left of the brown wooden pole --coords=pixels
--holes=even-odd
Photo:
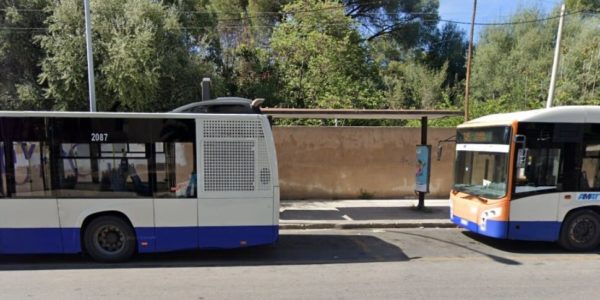
[[[87,110],[83,2],[0,3],[2,108]],[[214,95],[268,106],[435,108],[454,101],[465,52],[462,32],[438,27],[437,8],[436,0],[91,0],[97,107],[169,110],[197,101],[211,77]]]

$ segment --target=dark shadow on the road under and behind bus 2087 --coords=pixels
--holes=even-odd
[[[369,235],[280,236],[276,245],[235,250],[139,254],[125,263],[96,263],[83,255],[0,255],[0,271],[182,268],[408,261],[395,245]]]

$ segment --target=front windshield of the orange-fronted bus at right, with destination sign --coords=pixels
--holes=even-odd
[[[454,190],[489,199],[506,195],[510,127],[459,129]]]

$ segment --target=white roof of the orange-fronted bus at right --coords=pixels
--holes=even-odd
[[[512,113],[493,114],[468,121],[459,125],[459,127],[510,125],[514,121],[539,123],[600,123],[600,106],[556,106]]]

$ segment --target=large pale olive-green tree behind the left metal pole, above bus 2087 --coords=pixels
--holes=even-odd
[[[208,67],[191,56],[175,7],[145,0],[91,1],[98,110],[161,111],[198,99]],[[87,110],[82,2],[55,2],[40,82],[63,110]]]

